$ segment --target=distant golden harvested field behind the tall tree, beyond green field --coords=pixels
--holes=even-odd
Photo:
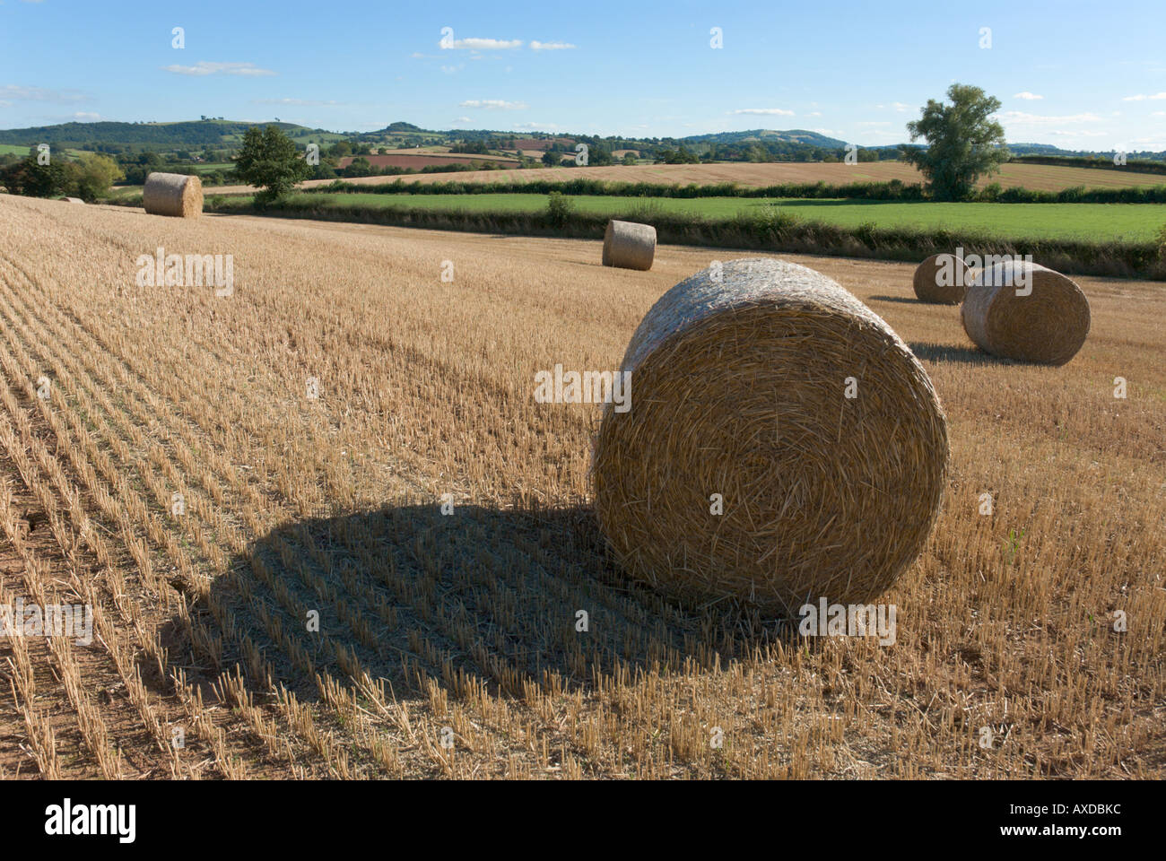
[[[613,167],[570,168],[533,168],[521,174],[522,178],[536,180],[577,180],[590,177],[607,182],[652,182],[687,186],[695,182],[698,186],[710,186],[718,182],[736,182],[739,186],[778,186],[782,183],[826,182],[843,184],[848,182],[890,182],[899,180],[905,183],[920,182],[921,176],[911,164],[898,161],[861,162],[858,164],[819,163],[819,162],[779,162],[768,164],[721,163],[721,164],[633,164]],[[350,182],[375,184],[402,178],[406,182],[442,182],[449,176],[363,176]],[[498,175],[490,170],[458,173],[459,182],[498,182]],[[508,177],[513,178],[513,177]],[[329,180],[309,180],[302,188],[316,184],[328,184]],[[1061,167],[1059,164],[1004,164],[1000,173],[981,186],[998,182],[1002,188],[1027,188],[1034,191],[1060,191],[1075,186],[1087,188],[1130,188],[1166,184],[1161,174],[1125,173],[1124,170],[1095,170],[1091,168]],[[218,194],[245,194],[247,186],[224,186]]]

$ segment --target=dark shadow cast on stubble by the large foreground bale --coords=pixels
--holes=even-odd
[[[312,612],[318,630],[309,630]],[[236,665],[261,680],[246,636],[272,680],[307,701],[318,699],[317,673],[351,676],[350,656],[398,693],[422,693],[421,676],[448,687],[464,674],[521,695],[521,679],[547,673],[590,688],[617,667],[634,678],[681,672],[686,659],[712,666],[719,656],[723,665],[795,637],[793,625],[747,608],[680,607],[627,581],[582,505],[451,514],[437,504],[385,506],[292,522],[232,559],[190,615],[222,638],[222,656],[199,650],[176,615],[162,632],[171,663],[201,670],[202,684]]]

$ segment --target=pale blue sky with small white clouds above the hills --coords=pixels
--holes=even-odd
[[[1166,0],[0,1],[2,128],[208,114],[879,145],[953,82],[999,98],[1013,142],[1166,149]]]

